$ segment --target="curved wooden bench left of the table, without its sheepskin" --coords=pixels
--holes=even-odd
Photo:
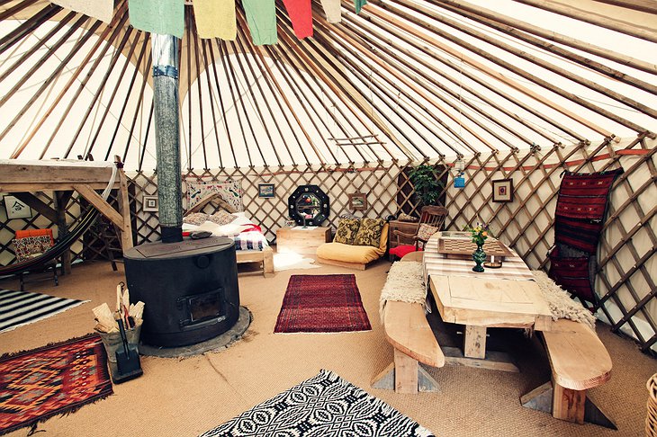
[[[404,257],[406,258],[406,257]],[[402,261],[416,261],[414,257]],[[438,385],[419,362],[443,367],[445,355],[429,326],[419,303],[389,300],[383,308],[383,328],[394,348],[394,361],[372,381],[372,387],[393,389],[397,393],[437,391]]]

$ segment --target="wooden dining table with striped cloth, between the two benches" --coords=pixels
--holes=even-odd
[[[532,277],[527,265],[521,264],[526,274],[518,263],[522,260],[514,254],[518,259],[509,257],[501,269],[475,273],[468,269],[474,265],[473,261],[437,258],[443,256],[437,254],[439,237],[437,234],[429,239],[424,256],[425,277],[443,321],[465,326],[463,355],[452,356],[446,362],[518,371],[505,362],[505,357],[493,357],[486,352],[486,330],[489,327],[550,330],[552,313],[536,282],[527,281]],[[453,354],[446,352],[447,355]],[[491,360],[480,362],[483,359]]]

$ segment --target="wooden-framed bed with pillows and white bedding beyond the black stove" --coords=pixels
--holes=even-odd
[[[219,194],[212,194],[200,201],[193,209],[184,214],[185,218],[201,211],[208,203],[218,205],[219,213],[224,211],[236,218],[228,225],[220,225],[211,220],[206,220],[198,225],[184,223],[183,230],[207,230],[212,235],[228,236],[235,241],[238,263],[262,263],[265,276],[274,273],[274,251],[269,246],[266,237],[259,227],[246,217],[244,212],[236,211],[228,202],[223,201]]]

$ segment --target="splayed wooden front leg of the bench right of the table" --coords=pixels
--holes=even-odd
[[[520,397],[520,403],[527,408],[551,413],[555,418],[567,422],[575,424],[588,422],[617,429],[616,424],[586,396],[586,390],[573,390],[546,382]]]

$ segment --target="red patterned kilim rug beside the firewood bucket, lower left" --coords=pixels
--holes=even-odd
[[[0,434],[112,394],[98,334],[0,358]]]

